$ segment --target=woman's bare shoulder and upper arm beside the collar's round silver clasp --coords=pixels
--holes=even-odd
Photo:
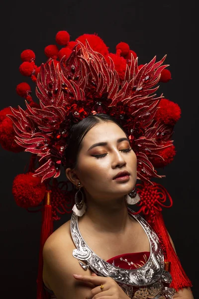
[[[73,257],[75,245],[70,234],[70,220],[49,236],[43,248],[43,281],[57,299],[82,299],[93,288],[74,279],[74,274],[91,275]]]

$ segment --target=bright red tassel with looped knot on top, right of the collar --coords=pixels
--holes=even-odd
[[[162,207],[170,208],[173,204],[170,194],[162,185],[155,182],[153,182],[153,184],[143,182],[136,186],[139,187],[137,192],[140,196],[140,201],[137,203],[137,206],[139,206],[140,209],[134,214],[143,212],[146,217],[146,221],[157,233],[164,253],[165,267],[167,268],[171,266],[171,287],[176,291],[179,291],[179,289],[182,288],[192,287],[192,283],[183,270],[180,260],[171,244],[161,213]],[[166,205],[167,199],[169,201],[169,205]]]

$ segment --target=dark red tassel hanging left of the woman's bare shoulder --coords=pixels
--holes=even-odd
[[[40,235],[40,248],[39,248],[39,265],[37,274],[37,297],[36,299],[48,299],[49,295],[43,288],[43,246],[47,238],[53,232],[53,219],[52,219],[52,206],[51,206],[51,190],[46,190],[44,207],[42,209],[42,224]]]

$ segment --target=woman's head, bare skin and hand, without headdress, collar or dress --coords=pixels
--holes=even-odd
[[[125,253],[132,253],[134,261],[137,253],[149,257],[149,239],[127,210],[126,194],[136,184],[137,158],[123,129],[107,115],[90,116],[73,126],[67,154],[73,162],[66,168],[66,176],[85,194],[87,209],[78,224],[88,246],[105,261]],[[116,179],[118,174],[123,176]],[[73,256],[76,247],[70,225],[71,220],[59,227],[44,245],[46,287],[58,299],[129,298],[112,278],[81,267]],[[173,298],[193,299],[193,295],[184,288]]]

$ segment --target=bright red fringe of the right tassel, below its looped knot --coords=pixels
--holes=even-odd
[[[157,233],[160,242],[162,243],[162,249],[165,255],[165,262],[170,262],[170,273],[172,276],[171,288],[174,288],[176,291],[182,288],[192,287],[192,282],[187,277],[178,256],[175,253],[175,250],[171,244],[168,231],[166,229],[162,213],[156,211],[154,221],[150,221],[150,215],[146,215],[147,222],[150,223],[154,231]]]

